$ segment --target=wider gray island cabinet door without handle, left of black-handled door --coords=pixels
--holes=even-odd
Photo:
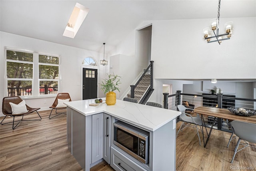
[[[92,115],[92,163],[102,159],[103,113]]]

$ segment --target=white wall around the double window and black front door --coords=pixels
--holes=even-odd
[[[103,54],[92,52],[80,48],[65,46],[52,42],[46,42],[34,38],[18,36],[6,32],[0,32],[0,105],[2,108],[2,98],[7,96],[7,88],[5,87],[5,56],[4,47],[18,48],[23,50],[31,50],[34,52],[49,54],[53,56],[60,56],[60,89],[59,92],[70,93],[72,101],[80,100],[82,97],[82,62],[86,57],[92,57],[96,60],[98,65],[98,77],[104,78],[105,73],[109,72],[109,66],[101,66],[100,60],[103,59]],[[107,56],[107,57],[106,57]],[[105,54],[106,60],[109,60],[108,55]],[[99,86],[98,86],[99,87]],[[99,89],[99,96],[104,95]],[[41,107],[41,109],[49,109],[55,97],[44,99],[26,99],[26,103],[31,107]]]

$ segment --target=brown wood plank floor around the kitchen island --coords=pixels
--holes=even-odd
[[[48,119],[50,111],[39,112],[41,121],[22,121],[12,130],[11,124],[0,125],[0,170],[1,171],[80,171],[82,168],[68,151],[66,143],[66,115]],[[32,114],[26,118],[36,119]],[[1,121],[2,121],[1,117]],[[11,117],[7,121],[11,121]],[[177,124],[177,129],[180,124]],[[231,133],[213,130],[210,140],[204,148],[199,145],[195,129],[186,128],[180,132],[176,141],[177,171],[228,171],[256,170],[256,144],[250,143],[236,154],[234,163],[230,160],[237,139],[226,147]],[[202,140],[202,134],[200,133]],[[238,167],[244,169],[239,169]],[[233,169],[232,169],[233,168]],[[91,168],[93,171],[112,171],[101,162]],[[252,169],[251,169],[252,170]]]

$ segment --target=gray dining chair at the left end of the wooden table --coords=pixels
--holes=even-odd
[[[197,131],[197,135],[198,135],[198,139],[199,139],[199,144],[201,145],[201,140],[200,140],[200,136],[198,133],[198,127],[197,125],[199,125],[199,127],[202,125],[202,119],[199,116],[199,114],[197,114],[196,116],[192,116],[188,113],[186,113],[186,110],[191,110],[190,108],[186,108],[184,105],[178,105],[178,110],[181,111],[181,115],[180,115],[180,120],[183,121],[182,125],[180,125],[180,129],[177,132],[176,137],[178,136],[179,131],[183,130],[186,127],[193,127],[196,128]],[[182,128],[182,126],[184,126]],[[202,131],[201,127],[200,130]]]

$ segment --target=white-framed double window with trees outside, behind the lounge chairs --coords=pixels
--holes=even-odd
[[[8,96],[57,94],[58,82],[58,56],[6,49]]]

